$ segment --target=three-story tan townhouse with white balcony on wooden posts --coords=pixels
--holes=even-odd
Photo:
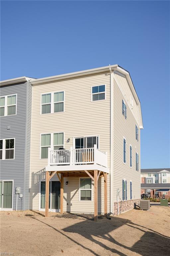
[[[117,214],[118,189],[122,211],[133,208],[143,124],[129,73],[112,65],[31,83],[30,209],[44,210],[45,187],[47,211]]]

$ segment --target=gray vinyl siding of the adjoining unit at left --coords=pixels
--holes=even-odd
[[[31,89],[28,88],[28,94]],[[11,160],[0,160],[0,180],[13,180],[13,209],[16,208],[15,188],[21,187],[23,199],[19,199],[18,195],[18,210],[28,209],[28,192],[24,189],[25,184],[29,184],[29,154],[30,142],[26,142],[26,122],[28,122],[27,134],[31,132],[31,102],[30,98],[27,104],[27,83],[6,85],[0,88],[0,96],[17,94],[17,114],[13,116],[0,117],[0,139],[15,138],[15,156]],[[29,114],[28,120],[26,119]],[[11,128],[7,130],[7,126]],[[28,155],[25,159],[25,147],[27,146]]]

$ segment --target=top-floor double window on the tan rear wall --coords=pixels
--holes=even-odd
[[[64,112],[64,91],[41,95],[41,114]]]

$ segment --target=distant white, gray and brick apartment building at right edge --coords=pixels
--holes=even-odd
[[[170,168],[141,169],[141,194],[170,196]]]

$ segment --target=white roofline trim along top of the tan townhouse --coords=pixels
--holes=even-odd
[[[47,82],[54,82],[57,80],[64,80],[64,79],[75,78],[75,77],[79,77],[79,76],[92,75],[92,74],[101,73],[101,72],[110,72],[110,70],[119,71],[120,73],[122,73],[126,76],[126,78],[128,80],[128,84],[132,91],[132,94],[134,96],[134,99],[137,103],[137,110],[138,110],[138,114],[139,114],[139,128],[143,129],[143,120],[142,120],[140,101],[139,101],[139,98],[135,91],[130,74],[126,69],[122,68],[118,64],[104,66],[104,67],[100,67],[100,68],[87,69],[87,70],[78,71],[78,72],[66,73],[66,74],[57,75],[57,76],[49,76],[49,77],[44,77],[44,78],[39,78],[39,79],[33,79],[31,81],[31,84],[34,86],[34,85],[43,84],[43,83],[47,83]]]

